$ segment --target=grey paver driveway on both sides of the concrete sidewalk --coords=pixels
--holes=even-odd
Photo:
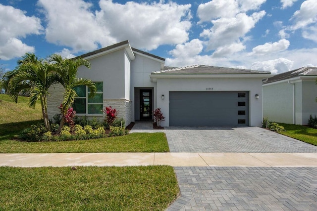
[[[171,152],[317,153],[316,146],[259,127],[161,131]],[[167,211],[317,210],[316,167],[175,167],[175,173],[181,196]]]

